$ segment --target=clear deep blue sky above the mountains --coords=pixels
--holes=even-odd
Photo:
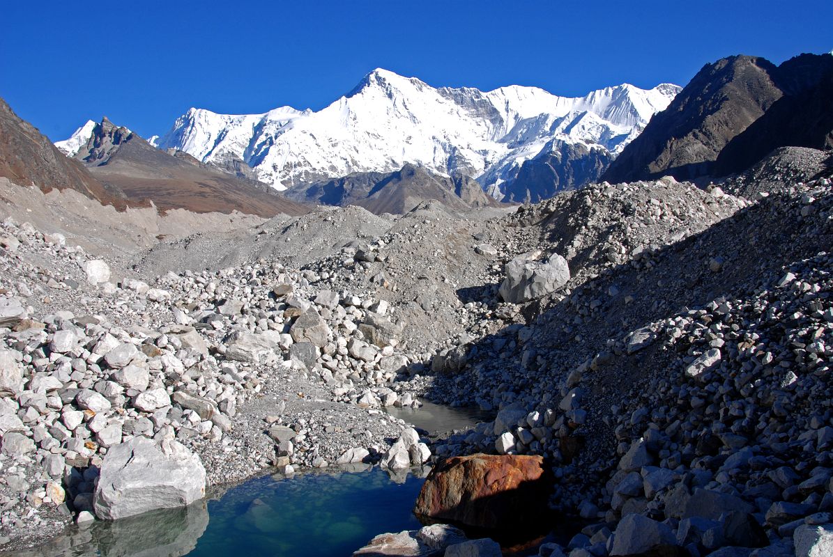
[[[833,48],[831,0],[2,5],[0,97],[53,140],[102,115],[149,137],[192,106],[317,110],[375,67],[433,86],[581,95],[685,85],[731,54],[783,62]]]

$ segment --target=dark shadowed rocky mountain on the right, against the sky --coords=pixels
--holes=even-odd
[[[802,54],[781,66],[734,56],[707,64],[602,176],[721,177],[776,147],[833,147],[833,57]]]

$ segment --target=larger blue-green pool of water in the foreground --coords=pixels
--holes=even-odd
[[[182,509],[72,527],[47,545],[3,555],[351,555],[379,532],[419,528],[411,510],[423,480],[414,475],[397,480],[402,483],[378,467],[292,479],[264,475],[207,505],[202,500]]]

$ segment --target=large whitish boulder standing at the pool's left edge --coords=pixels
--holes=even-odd
[[[107,451],[93,509],[99,519],[116,520],[190,505],[205,492],[206,470],[198,455],[176,440],[157,444],[135,437]]]

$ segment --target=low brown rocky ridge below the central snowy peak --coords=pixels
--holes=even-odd
[[[412,164],[397,172],[357,172],[327,182],[294,186],[286,195],[303,203],[362,206],[377,215],[402,215],[430,200],[440,201],[454,211],[500,206],[469,177],[444,177]]]

